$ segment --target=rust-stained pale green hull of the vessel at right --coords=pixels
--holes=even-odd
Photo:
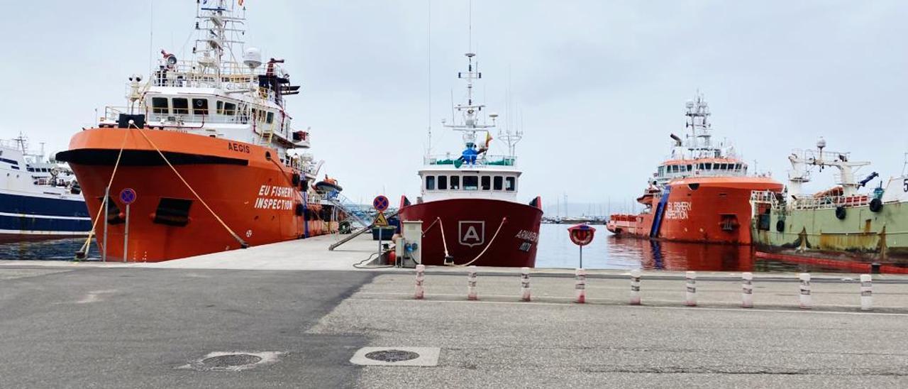
[[[878,213],[868,205],[790,209],[755,204],[751,228],[757,250],[788,254],[846,254],[854,258],[908,263],[908,203],[884,204]],[[766,204],[768,205],[768,204]],[[782,221],[781,223],[779,221]],[[779,231],[781,230],[781,231]]]

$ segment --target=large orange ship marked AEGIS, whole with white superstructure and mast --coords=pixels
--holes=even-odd
[[[162,50],[149,79],[130,77],[128,106],[107,107],[56,156],[82,185],[104,259],[163,261],[336,229],[330,199],[311,186],[321,162],[304,152],[310,135],[285,109],[300,87],[282,60],[234,52],[244,14],[232,1],[199,3],[192,60]]]

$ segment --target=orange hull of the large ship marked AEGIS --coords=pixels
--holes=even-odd
[[[106,248],[101,247],[103,220],[94,229],[108,260],[157,262],[325,234],[336,228],[322,221],[326,218],[321,204],[306,201],[307,183],[294,179],[299,172],[283,165],[275,150],[150,129],[86,130],[74,135],[69,150],[58,155],[73,168],[93,221],[121,145],[123,156],[110,190]],[[293,185],[294,181],[298,184]],[[125,255],[125,204],[118,195],[124,188],[137,194],[129,205]]]

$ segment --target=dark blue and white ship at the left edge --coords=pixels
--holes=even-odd
[[[30,151],[24,135],[0,141],[0,242],[84,236],[92,228],[75,175]]]

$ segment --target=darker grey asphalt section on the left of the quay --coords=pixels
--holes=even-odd
[[[355,272],[0,269],[0,387],[345,387],[360,334],[306,334]],[[279,352],[244,371],[212,352]],[[200,369],[201,370],[201,369]]]

